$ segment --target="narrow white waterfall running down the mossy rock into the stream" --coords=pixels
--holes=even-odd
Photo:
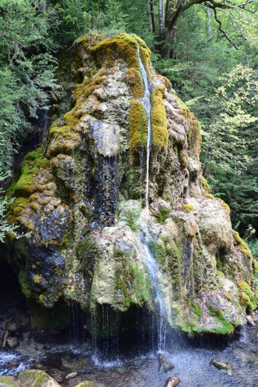
[[[150,85],[148,76],[141,59],[140,47],[137,43],[138,59],[140,64],[140,72],[144,84],[144,97],[142,102],[145,107],[148,129],[147,129],[147,147],[146,147],[146,188],[145,188],[145,207],[146,207],[146,233],[144,238],[144,249],[146,265],[151,277],[152,286],[156,293],[156,302],[158,306],[158,348],[164,350],[166,342],[166,308],[158,286],[158,267],[157,263],[149,249],[149,164],[150,164],[150,150],[151,150],[151,100],[150,100]]]

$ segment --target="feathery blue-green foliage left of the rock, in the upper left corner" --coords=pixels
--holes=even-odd
[[[0,2],[0,171],[11,169],[29,129],[29,118],[46,109],[56,89],[51,37],[56,15],[30,0]]]

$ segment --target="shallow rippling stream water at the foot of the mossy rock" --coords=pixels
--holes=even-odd
[[[256,331],[256,327],[243,327],[238,338],[224,343],[216,343],[215,337],[191,343],[177,340],[173,348],[166,349],[175,366],[168,373],[160,371],[155,349],[141,353],[129,349],[112,356],[93,351],[90,339],[78,343],[24,340],[16,350],[1,350],[0,375],[15,376],[23,369],[38,368],[66,387],[73,387],[82,380],[92,380],[106,387],[163,387],[171,375],[180,377],[180,387],[257,387]],[[229,361],[232,376],[211,366],[212,358]],[[77,376],[65,379],[71,372],[76,372]]]

